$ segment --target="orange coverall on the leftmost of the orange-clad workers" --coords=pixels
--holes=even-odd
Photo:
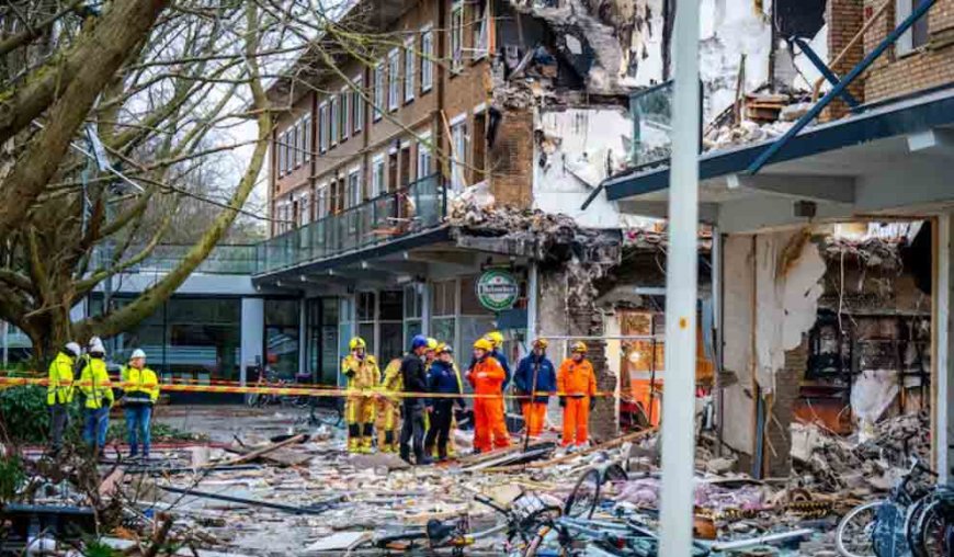
[[[501,386],[507,373],[496,359],[486,356],[474,364],[468,375],[474,386],[474,448],[486,453],[493,447],[510,446],[510,433],[503,420],[503,395]]]

